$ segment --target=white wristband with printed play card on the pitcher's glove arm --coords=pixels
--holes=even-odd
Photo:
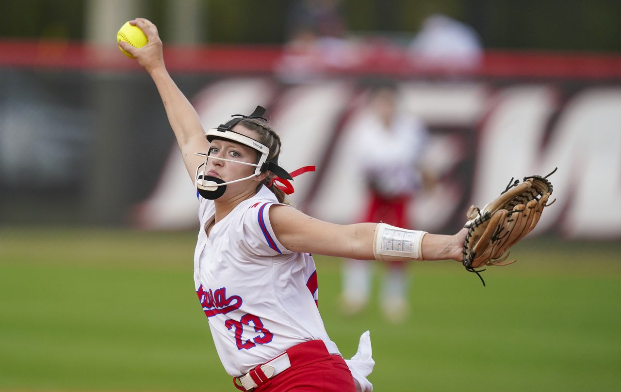
[[[376,260],[386,261],[383,256],[397,256],[422,260],[421,246],[427,231],[408,230],[378,223],[373,239]]]

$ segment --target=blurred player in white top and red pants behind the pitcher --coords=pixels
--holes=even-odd
[[[369,204],[360,221],[383,222],[415,229],[408,221],[407,205],[424,182],[421,158],[428,133],[414,115],[399,107],[395,84],[382,82],[369,92],[365,113],[353,127],[351,146],[366,180]],[[384,316],[399,323],[407,316],[408,277],[405,262],[388,263],[380,288]],[[346,260],[343,263],[343,311],[355,314],[369,301],[373,264]]]

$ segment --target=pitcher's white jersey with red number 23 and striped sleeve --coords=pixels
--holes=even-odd
[[[301,342],[329,341],[317,309],[317,272],[308,253],[274,235],[265,186],[215,223],[213,200],[199,196],[201,229],[194,285],[225,370],[240,376]]]

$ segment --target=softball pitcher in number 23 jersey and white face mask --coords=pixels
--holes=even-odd
[[[148,43],[139,49],[122,41],[119,45],[155,82],[197,187],[201,228],[194,287],[235,387],[371,391],[366,376],[374,362],[368,332],[356,355],[344,361],[319,314],[311,254],[460,262],[467,229],[445,236],[376,223],[333,225],[287,205],[276,182],[286,185],[291,175],[278,166],[280,138],[261,117],[265,109],[234,115],[204,131],[193,105],[166,70],[155,25],[142,18],[130,23],[140,27]],[[379,148],[377,154],[397,153]],[[401,246],[384,246],[388,242]]]

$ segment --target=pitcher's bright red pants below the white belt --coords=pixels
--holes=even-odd
[[[330,355],[322,341],[286,350],[291,367],[253,392],[355,392],[353,377],[340,355]]]

